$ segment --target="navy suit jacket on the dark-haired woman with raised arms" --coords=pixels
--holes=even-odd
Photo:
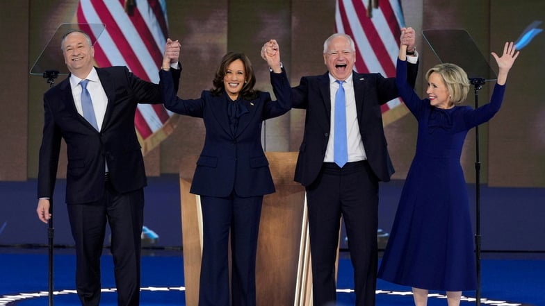
[[[206,137],[190,192],[216,197],[229,196],[233,191],[243,197],[275,192],[261,146],[261,124],[291,109],[291,87],[285,71],[270,74],[277,101],[271,101],[268,92],[259,92],[257,99],[236,102],[243,103],[249,111],[240,117],[236,135],[229,126],[227,104],[232,102],[225,91],[215,96],[205,90],[200,99],[183,100],[176,96],[169,74],[160,71],[159,76],[168,110],[204,120]]]

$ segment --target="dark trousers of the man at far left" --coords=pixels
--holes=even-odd
[[[81,305],[98,306],[100,303],[100,257],[106,223],[109,223],[112,235],[117,305],[139,305],[143,189],[117,194],[106,182],[106,192],[98,203],[69,204],[67,207],[76,242],[76,289]]]

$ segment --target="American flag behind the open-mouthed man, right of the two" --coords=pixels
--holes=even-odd
[[[405,26],[399,0],[337,0],[335,31],[350,35],[356,45],[355,70],[396,76],[400,27]],[[382,105],[384,125],[407,114],[400,99]]]

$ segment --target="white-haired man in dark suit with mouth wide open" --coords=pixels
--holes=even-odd
[[[401,40],[409,45],[407,53],[415,55],[414,30],[408,28]],[[370,306],[375,305],[378,262],[378,182],[389,181],[393,173],[380,105],[396,98],[398,91],[394,78],[352,70],[355,44],[348,35],[327,38],[323,56],[328,72],[302,77],[292,91],[293,108],[307,110],[295,181],[307,191],[313,300],[316,306],[335,303],[342,216],[356,305]],[[408,74],[414,85],[418,65],[417,57],[412,58],[415,64],[409,65]]]

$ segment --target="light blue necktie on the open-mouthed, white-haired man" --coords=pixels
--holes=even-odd
[[[339,167],[348,162],[348,148],[346,146],[346,107],[343,80],[336,80],[339,89],[335,94],[335,133],[333,135],[333,161]]]

